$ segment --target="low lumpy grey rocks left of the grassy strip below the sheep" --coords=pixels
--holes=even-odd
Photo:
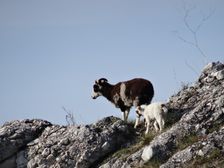
[[[131,144],[134,134],[115,117],[68,127],[42,120],[14,121],[0,128],[0,167],[94,167]]]

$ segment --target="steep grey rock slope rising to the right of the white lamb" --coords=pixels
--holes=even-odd
[[[162,168],[188,167],[198,157],[208,157],[212,150],[224,155],[224,65],[208,64],[198,81],[185,86],[172,96],[167,130],[155,136],[149,145],[130,154],[126,159],[111,158],[101,167],[141,167],[157,162]],[[170,123],[169,123],[170,124]],[[221,159],[224,167],[224,159]],[[208,159],[208,164],[210,160]],[[221,167],[222,167],[221,166]],[[196,165],[192,166],[196,167]]]

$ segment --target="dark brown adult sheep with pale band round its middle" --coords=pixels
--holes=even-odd
[[[142,104],[150,104],[154,96],[153,85],[150,81],[142,78],[135,78],[115,85],[108,83],[108,80],[101,78],[93,85],[92,98],[99,96],[107,98],[123,113],[123,120],[127,121],[132,106],[138,107]],[[139,123],[137,116],[135,127]]]

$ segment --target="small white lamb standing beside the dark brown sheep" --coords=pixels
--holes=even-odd
[[[150,127],[150,121],[154,121],[154,127],[156,132],[158,130],[162,131],[164,128],[165,124],[165,116],[167,113],[168,109],[163,103],[151,103],[149,105],[141,105],[136,108],[136,113],[138,115],[143,115],[145,119],[145,126],[146,126],[146,131],[145,134],[148,134],[149,132],[149,127]],[[158,128],[159,125],[159,128]]]

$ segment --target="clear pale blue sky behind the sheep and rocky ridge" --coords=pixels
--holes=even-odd
[[[66,124],[62,106],[79,124],[120,117],[105,98],[91,99],[101,77],[147,78],[153,101],[167,101],[205,62],[224,60],[224,1],[187,2],[195,6],[193,27],[215,9],[198,33],[206,61],[174,33],[193,40],[181,0],[1,0],[0,125],[25,118]]]

